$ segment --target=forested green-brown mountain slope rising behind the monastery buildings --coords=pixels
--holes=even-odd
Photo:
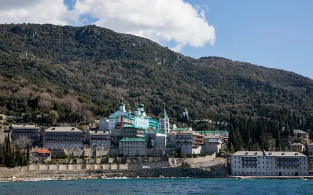
[[[26,57],[27,52],[27,57]],[[0,24],[0,113],[89,121],[142,103],[172,120],[267,116],[313,109],[313,82],[293,72],[221,57],[193,59],[145,38],[95,25]],[[53,120],[53,119],[51,119]]]

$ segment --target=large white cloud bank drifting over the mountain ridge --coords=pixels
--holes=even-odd
[[[72,10],[63,0],[0,0],[0,5],[0,23],[81,25],[87,15],[97,20],[96,25],[117,32],[174,42],[175,51],[186,45],[214,45],[216,39],[205,19],[208,7],[183,0],[76,0]]]

